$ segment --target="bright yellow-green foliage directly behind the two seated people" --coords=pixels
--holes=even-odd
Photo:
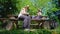
[[[20,11],[26,5],[30,5],[30,15],[36,15],[38,8],[41,8],[43,15],[46,15],[47,11],[52,8],[51,0],[17,0],[17,8]]]

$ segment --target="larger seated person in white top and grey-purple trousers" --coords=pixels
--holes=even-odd
[[[18,15],[18,19],[22,18],[23,20],[23,28],[24,29],[29,29],[30,28],[30,21],[31,18],[29,16],[29,13],[27,12],[29,9],[29,5],[27,5],[26,7],[22,8],[19,15]]]

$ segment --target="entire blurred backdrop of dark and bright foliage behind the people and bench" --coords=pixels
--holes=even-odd
[[[40,8],[43,16],[55,19],[60,24],[60,0],[0,0],[0,18],[7,18],[8,14],[18,15],[26,5],[29,5],[30,15],[36,15]]]

